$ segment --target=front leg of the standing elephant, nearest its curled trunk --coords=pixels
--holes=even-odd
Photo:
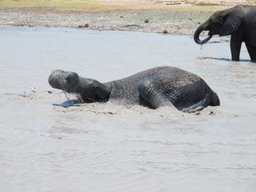
[[[232,54],[232,61],[240,60],[241,45],[243,42],[243,31],[239,29],[231,35],[230,49]]]

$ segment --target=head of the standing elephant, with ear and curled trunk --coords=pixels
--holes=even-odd
[[[202,25],[200,25],[194,34],[194,40],[196,44],[205,44],[213,35],[226,36],[230,35],[234,31],[237,31],[243,23],[244,11],[242,6],[234,6],[227,10],[215,12],[207,19]],[[199,36],[202,31],[209,31],[208,37],[204,40],[200,40]]]

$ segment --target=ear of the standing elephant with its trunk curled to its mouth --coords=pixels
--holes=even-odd
[[[230,35],[243,23],[244,11],[242,6],[234,6],[221,14],[223,20],[220,36]]]

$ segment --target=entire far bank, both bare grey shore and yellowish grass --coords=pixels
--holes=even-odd
[[[68,4],[0,2],[0,25],[88,28],[191,35],[198,24],[225,6],[166,6],[152,1]],[[37,4],[36,4],[37,2]],[[50,1],[51,2],[51,1]],[[87,4],[86,4],[87,3]]]

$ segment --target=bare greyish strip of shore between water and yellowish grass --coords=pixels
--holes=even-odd
[[[162,7],[162,6],[161,6]],[[86,28],[193,35],[195,29],[223,6],[171,6],[166,10],[58,10],[54,8],[0,8],[2,26]],[[212,10],[212,11],[211,11]],[[147,22],[148,20],[148,22]]]

